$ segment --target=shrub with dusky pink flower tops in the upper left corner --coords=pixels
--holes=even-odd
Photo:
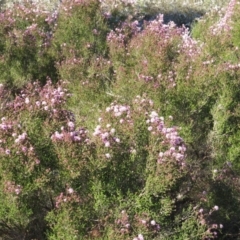
[[[16,3],[0,14],[0,81],[21,88],[28,81],[56,80],[49,54],[56,14],[27,2]]]

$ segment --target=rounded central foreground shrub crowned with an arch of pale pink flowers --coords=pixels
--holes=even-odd
[[[94,189],[98,186],[93,193],[96,210],[110,218],[105,223],[107,236],[126,239],[137,229],[149,238],[157,236],[174,211],[171,189],[179,188],[186,172],[186,148],[177,128],[166,126],[151,100],[137,96],[130,105],[113,102],[102,112],[93,141]],[[126,199],[124,209],[129,211],[117,219],[100,205],[108,203],[119,212],[121,199]]]

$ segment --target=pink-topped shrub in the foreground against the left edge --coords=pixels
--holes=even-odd
[[[44,218],[54,208],[54,192],[61,188],[49,134],[65,119],[61,107],[67,93],[64,84],[54,87],[48,80],[44,88],[40,85],[29,83],[12,100],[1,85],[0,234],[4,239],[45,239]]]

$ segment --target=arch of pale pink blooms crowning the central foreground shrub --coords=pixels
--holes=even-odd
[[[95,128],[93,136],[100,139],[106,148],[110,148],[121,141],[120,138],[117,137],[117,133],[120,134],[120,136],[123,134],[134,135],[132,131],[135,131],[133,126],[136,118],[147,118],[146,123],[149,133],[154,139],[159,137],[162,139],[160,143],[161,145],[159,146],[160,152],[156,157],[158,159],[158,163],[163,163],[167,161],[167,159],[171,158],[174,159],[181,167],[184,167],[186,164],[186,147],[183,139],[178,134],[178,128],[167,127],[165,125],[164,118],[159,117],[156,111],[151,111],[152,106],[153,102],[151,100],[140,96],[135,98],[133,106],[120,105],[116,102],[112,103],[106,108],[104,117],[99,119],[100,124]],[[170,119],[172,119],[172,116],[170,116]],[[103,124],[105,126],[103,126]],[[129,145],[130,152],[135,152],[134,141],[135,140],[133,139]],[[107,158],[111,157],[109,151],[110,150],[108,150],[108,153],[106,154]]]

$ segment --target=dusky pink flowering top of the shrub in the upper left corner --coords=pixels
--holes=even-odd
[[[57,19],[56,13],[41,9],[36,4],[14,4],[0,15],[0,24],[8,26],[8,37],[14,42],[14,47],[28,47],[41,49],[50,46],[51,29]],[[25,27],[19,26],[24,23]],[[22,24],[21,24],[22,25]],[[13,46],[12,46],[13,47]]]

